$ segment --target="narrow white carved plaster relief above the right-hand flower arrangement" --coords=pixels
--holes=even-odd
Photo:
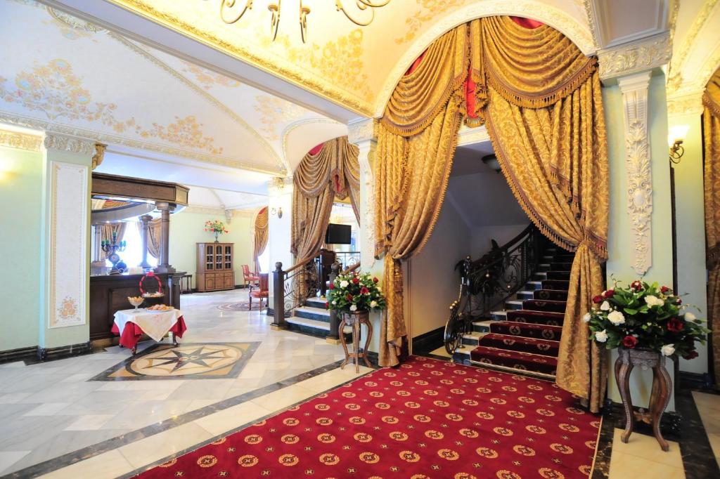
[[[647,130],[650,72],[618,80],[625,107],[627,204],[632,229],[632,267],[644,275],[652,265],[652,175]]]

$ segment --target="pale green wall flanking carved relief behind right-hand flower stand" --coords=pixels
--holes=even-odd
[[[649,281],[672,286],[672,241],[670,224],[670,170],[667,148],[667,103],[665,100],[665,77],[651,78],[648,93],[648,128],[652,170],[652,267],[644,278]],[[610,228],[608,231],[607,280],[611,276],[627,285],[638,277],[632,268],[632,236],[630,217],[627,211],[627,181],[625,167],[624,106],[618,86],[603,87],[603,106],[608,132],[608,161],[610,164]],[[616,402],[618,393],[613,368],[617,357],[615,351],[609,355],[608,396]],[[672,362],[667,370],[672,377]],[[636,370],[631,376],[631,393],[636,406],[647,406],[652,386],[652,373]],[[675,409],[674,398],[668,406]]]

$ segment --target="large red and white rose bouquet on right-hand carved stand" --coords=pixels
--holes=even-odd
[[[686,360],[698,357],[695,342],[705,344],[710,332],[703,321],[667,286],[633,281],[629,288],[603,291],[593,298],[593,309],[582,317],[590,327],[590,340],[627,349],[644,348]]]

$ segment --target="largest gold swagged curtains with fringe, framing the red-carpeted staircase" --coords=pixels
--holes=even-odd
[[[468,73],[472,103],[464,98]],[[597,60],[551,27],[528,29],[509,17],[477,19],[436,40],[398,83],[380,122],[375,251],[385,253],[392,285],[380,364],[397,363],[397,335],[405,334],[400,260],[422,250],[432,232],[462,114],[487,122],[518,202],[553,242],[576,252],[557,383],[598,411],[604,355],[580,321],[603,289],[600,263],[607,257],[608,158]]]

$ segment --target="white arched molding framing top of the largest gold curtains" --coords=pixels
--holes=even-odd
[[[469,22],[470,20],[480,17],[491,17],[493,15],[517,15],[519,17],[531,18],[548,24],[554,29],[562,32],[566,37],[575,42],[578,48],[585,55],[593,55],[597,50],[597,46],[593,41],[590,29],[586,25],[581,24],[577,19],[560,9],[556,9],[539,1],[533,0],[485,0],[474,4],[469,4],[460,9],[455,9],[450,14],[441,18],[435,24],[428,27],[419,35],[417,40],[410,45],[408,50],[395,63],[395,67],[390,73],[377,94],[374,105],[374,114],[365,114],[366,117],[382,117],[387,100],[395,89],[397,82],[408,70],[408,67],[416,58],[423,53],[428,45],[436,38],[443,35],[450,29]]]

